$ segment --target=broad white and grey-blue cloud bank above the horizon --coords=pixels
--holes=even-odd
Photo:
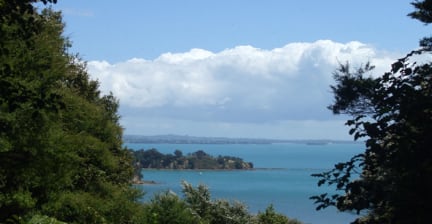
[[[288,133],[290,126],[311,130],[311,123],[327,127],[335,119],[326,106],[332,102],[329,85],[339,63],[360,66],[370,61],[380,75],[398,56],[356,41],[320,40],[271,50],[237,46],[221,52],[165,53],[153,60],[90,61],[88,70],[103,92],[120,99],[126,130],[134,133],[148,128],[175,132],[188,124],[196,132],[200,124],[241,132],[262,124],[266,132],[274,127],[276,134]],[[178,126],[169,129],[166,124]]]

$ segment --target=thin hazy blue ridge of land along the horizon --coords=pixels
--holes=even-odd
[[[347,144],[354,141],[311,139],[311,140],[280,140],[265,138],[227,138],[227,137],[197,137],[189,135],[124,135],[125,143],[153,144],[274,144],[298,143],[308,145]]]

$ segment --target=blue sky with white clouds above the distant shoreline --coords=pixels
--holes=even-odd
[[[120,101],[125,134],[351,140],[326,107],[339,63],[370,75],[429,27],[410,1],[59,0],[70,51]]]

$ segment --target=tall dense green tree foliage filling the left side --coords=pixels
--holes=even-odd
[[[0,0],[0,222],[131,222],[141,194],[118,101],[69,53],[61,14],[34,2]]]

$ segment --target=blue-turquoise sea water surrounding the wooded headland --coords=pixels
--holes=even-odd
[[[273,204],[278,212],[304,223],[342,224],[349,223],[355,216],[340,213],[335,209],[315,211],[309,199],[330,191],[330,188],[317,187],[317,179],[312,173],[320,173],[333,168],[337,162],[344,162],[360,153],[362,144],[126,144],[130,149],[156,148],[162,153],[173,153],[179,149],[183,154],[204,150],[218,156],[237,156],[252,162],[257,169],[248,171],[180,171],[144,170],[146,180],[156,181],[157,185],[140,186],[147,194],[144,200],[155,193],[172,190],[181,195],[181,182],[193,185],[205,184],[213,198],[237,200],[245,203],[250,212],[264,211]]]

